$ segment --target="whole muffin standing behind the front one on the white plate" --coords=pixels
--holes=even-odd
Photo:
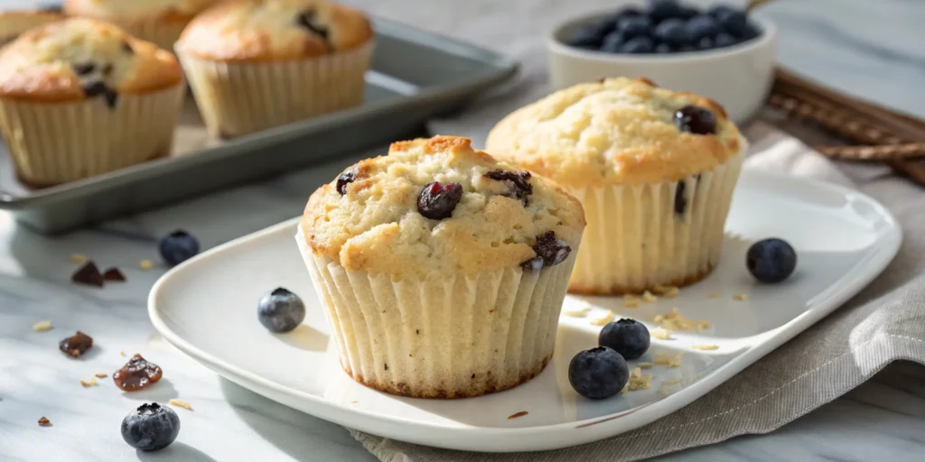
[[[588,226],[569,289],[605,295],[709,274],[746,142],[707,98],[603,79],[513,112],[487,149],[582,201]]]

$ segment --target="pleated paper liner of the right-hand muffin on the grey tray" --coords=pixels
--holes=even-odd
[[[331,55],[228,63],[177,55],[210,134],[232,138],[363,103],[375,43]]]

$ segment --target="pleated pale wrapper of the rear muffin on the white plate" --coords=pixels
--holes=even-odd
[[[569,291],[641,293],[706,277],[720,259],[741,166],[739,154],[677,182],[573,189],[587,227]]]

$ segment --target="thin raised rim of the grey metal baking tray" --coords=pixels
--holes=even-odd
[[[452,84],[422,87],[422,91],[413,95],[363,104],[326,116],[293,122],[280,127],[267,128],[229,141],[228,144],[208,147],[197,152],[189,152],[183,156],[131,165],[103,175],[91,176],[50,188],[36,189],[28,195],[15,195],[0,189],[0,210],[11,212],[26,210],[41,206],[45,202],[88,196],[105,191],[108,188],[117,188],[136,181],[167,175],[173,170],[209,164],[222,158],[246,155],[265,148],[267,145],[308,136],[325,131],[328,128],[340,127],[351,123],[352,119],[358,117],[379,116],[388,112],[413,108],[427,102],[450,98],[454,94],[476,91],[481,88],[487,89],[512,79],[520,71],[521,65],[518,61],[487,48],[453,39],[446,35],[416,29],[411,25],[392,19],[381,18],[376,15],[370,16],[373,18],[376,34],[396,37],[405,42],[425,44],[431,48],[439,48],[448,55],[478,59],[496,69],[485,75]]]

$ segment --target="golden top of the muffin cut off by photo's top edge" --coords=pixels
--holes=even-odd
[[[69,16],[123,21],[190,20],[218,0],[65,0]]]

